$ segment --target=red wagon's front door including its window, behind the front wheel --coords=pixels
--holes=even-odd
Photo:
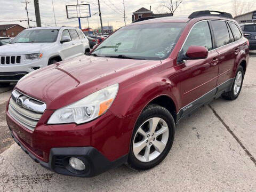
[[[213,50],[209,21],[201,21],[193,26],[180,54],[186,54],[188,47],[192,45],[205,46],[209,54],[206,59],[185,60],[180,63],[182,73],[179,79],[183,115],[214,96],[218,77],[219,54]]]

